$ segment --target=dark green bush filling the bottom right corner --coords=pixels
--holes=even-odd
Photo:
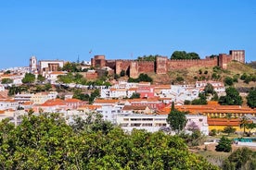
[[[224,161],[223,169],[255,169],[256,152],[249,148],[238,148]]]

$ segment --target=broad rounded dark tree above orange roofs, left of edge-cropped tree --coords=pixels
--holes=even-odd
[[[225,89],[225,96],[221,96],[219,103],[222,105],[241,105],[243,103],[242,97],[234,87]]]

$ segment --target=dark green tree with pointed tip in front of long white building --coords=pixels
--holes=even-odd
[[[186,127],[186,112],[180,112],[174,108],[172,103],[171,112],[167,117],[167,123],[170,127],[178,133]]]

